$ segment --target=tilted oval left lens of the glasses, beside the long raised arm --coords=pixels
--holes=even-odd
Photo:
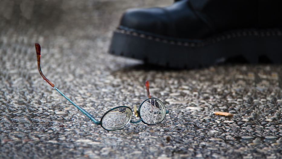
[[[107,130],[117,130],[125,127],[132,117],[129,108],[115,108],[102,118],[102,127]]]

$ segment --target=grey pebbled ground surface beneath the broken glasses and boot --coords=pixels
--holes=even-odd
[[[0,3],[0,158],[282,158],[281,65],[166,70],[107,53],[126,8],[172,2]],[[45,76],[94,117],[141,104],[146,80],[169,114],[104,130],[41,78],[35,42]]]

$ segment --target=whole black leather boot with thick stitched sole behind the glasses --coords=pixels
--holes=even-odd
[[[213,65],[231,57],[282,60],[281,0],[179,0],[130,9],[110,52],[173,68]]]

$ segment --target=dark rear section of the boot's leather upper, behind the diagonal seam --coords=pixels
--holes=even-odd
[[[281,0],[190,0],[216,32],[281,28]]]

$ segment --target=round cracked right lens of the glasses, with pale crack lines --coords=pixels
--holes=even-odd
[[[165,117],[164,104],[158,99],[147,99],[141,105],[140,116],[147,124],[157,124]]]

